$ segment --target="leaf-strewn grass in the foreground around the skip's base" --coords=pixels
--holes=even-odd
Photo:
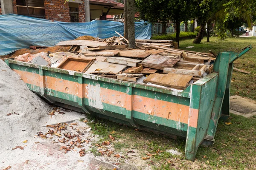
[[[125,125],[98,120],[101,123],[98,121],[90,123],[90,126],[94,127],[92,128],[93,132],[102,134],[104,138],[104,136],[108,136],[108,133],[115,131],[113,136],[116,137],[116,140],[111,141],[111,144],[117,151],[125,153],[127,150],[135,148],[139,151],[137,159],[148,157],[147,153],[156,154],[158,150],[163,151],[145,160],[152,165],[154,170],[256,168],[254,164],[256,155],[256,116],[248,119],[231,114],[227,122],[232,122],[232,125],[226,125],[225,122],[220,121],[215,134],[215,142],[209,147],[199,147],[195,162],[184,159],[186,142],[184,139],[169,139],[145,131],[135,131],[132,127]],[[103,130],[105,127],[106,129]],[[176,149],[182,155],[175,156],[166,152],[169,149]],[[95,155],[99,154],[96,148],[92,148],[90,151]]]

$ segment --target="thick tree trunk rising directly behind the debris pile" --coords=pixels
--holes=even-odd
[[[127,27],[128,27],[128,38],[129,48],[135,48],[135,26],[134,26],[134,0],[127,0]]]

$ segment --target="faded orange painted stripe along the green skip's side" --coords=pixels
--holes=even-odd
[[[20,75],[24,82],[41,87],[40,80],[42,77],[39,74],[19,70],[14,71]],[[81,93],[79,88],[81,89],[83,85],[79,84],[78,82],[72,82],[49,76],[44,77],[45,87],[55,91],[79,96],[80,98],[84,97],[92,100],[101,99],[101,101],[106,104],[126,108],[128,111],[134,110],[185,124],[188,124],[188,119],[190,119],[189,126],[197,127],[198,109],[192,109],[186,105],[151,99],[143,96],[128,95],[124,92],[102,87],[97,88],[94,85],[88,84],[84,84],[84,93]],[[97,96],[97,94],[99,94],[99,96]],[[190,118],[189,111],[191,112]]]

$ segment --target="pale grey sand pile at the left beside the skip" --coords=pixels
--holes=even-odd
[[[0,146],[11,147],[31,136],[49,110],[49,105],[0,59]]]

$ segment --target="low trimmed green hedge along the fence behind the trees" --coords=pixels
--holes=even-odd
[[[180,40],[195,38],[197,33],[195,32],[180,32]],[[173,40],[175,41],[176,33],[166,35],[155,35],[151,37],[151,40]]]

